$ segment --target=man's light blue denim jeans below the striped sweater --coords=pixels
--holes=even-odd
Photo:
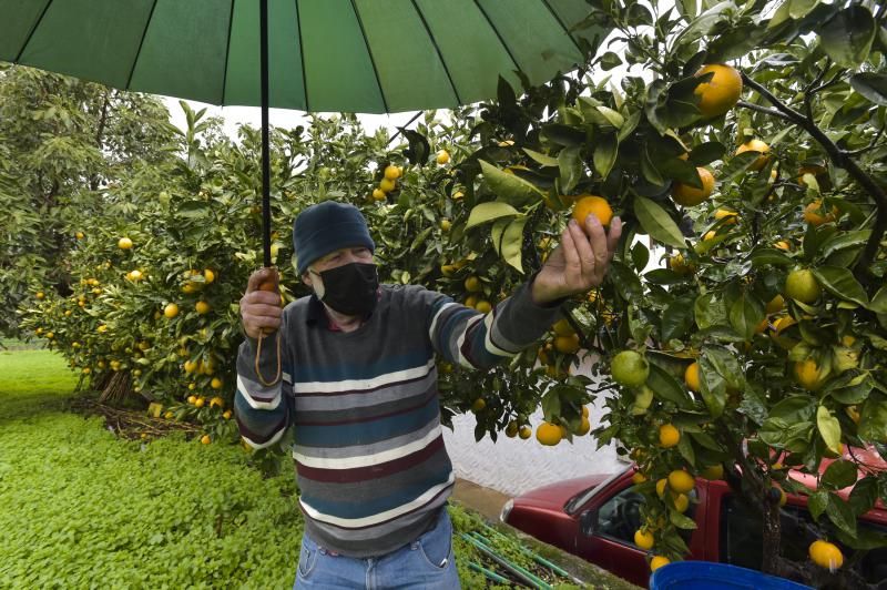
[[[388,555],[353,558],[333,553],[307,535],[302,536],[294,589],[422,589],[461,588],[452,555],[452,522],[440,510],[435,527]]]

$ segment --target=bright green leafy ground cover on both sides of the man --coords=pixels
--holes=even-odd
[[[78,378],[50,350],[0,349],[0,587],[292,588],[303,525],[288,468],[265,478],[237,446],[176,435],[120,439],[68,411]],[[477,513],[450,513],[457,533],[482,532]],[[481,556],[455,543],[463,588],[492,588],[468,569]],[[634,588],[530,539],[496,550],[533,569],[520,547],[598,588]]]

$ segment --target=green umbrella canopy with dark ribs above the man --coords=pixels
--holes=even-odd
[[[585,0],[271,0],[268,104],[455,108],[582,62]],[[258,0],[0,0],[0,61],[212,104],[259,105]]]

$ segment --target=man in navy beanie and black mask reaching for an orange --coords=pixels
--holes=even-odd
[[[435,357],[486,370],[533,344],[567,297],[601,284],[621,227],[614,218],[608,236],[593,215],[584,231],[571,221],[542,269],[483,315],[419,286],[380,286],[353,205],[296,217],[298,273],[314,294],[281,309],[276,291],[259,288],[273,271],[251,276],[235,414],[254,448],[294,427],[297,588],[459,588]]]

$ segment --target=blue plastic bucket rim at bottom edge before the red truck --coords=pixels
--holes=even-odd
[[[650,577],[650,590],[810,590],[810,587],[759,571],[711,561],[676,561]]]

